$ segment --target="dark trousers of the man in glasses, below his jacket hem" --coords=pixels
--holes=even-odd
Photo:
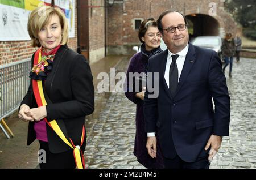
[[[174,159],[164,158],[166,169],[209,169],[208,156],[197,158],[196,162],[185,162],[176,155]]]

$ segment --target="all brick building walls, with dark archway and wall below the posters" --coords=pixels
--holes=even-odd
[[[157,19],[168,9],[180,11],[187,17],[193,36],[224,36],[226,32],[234,35],[237,31],[237,24],[224,9],[224,0],[74,1],[75,37],[69,38],[68,46],[84,54],[90,63],[105,55],[133,54],[132,47],[141,44],[140,23],[146,18]],[[55,1],[51,2],[54,5]],[[36,49],[30,41],[0,41],[0,66],[31,58]]]

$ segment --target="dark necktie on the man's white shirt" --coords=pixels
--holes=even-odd
[[[178,83],[178,70],[177,70],[177,63],[176,59],[179,57],[178,54],[172,55],[172,63],[170,66],[170,71],[169,71],[169,89],[174,95],[176,88],[177,88],[177,83]]]

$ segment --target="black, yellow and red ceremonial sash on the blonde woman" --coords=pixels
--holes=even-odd
[[[38,49],[35,53],[34,65],[37,65],[38,63],[41,62],[41,59],[42,59],[41,49],[42,48]],[[46,102],[46,97],[44,96],[42,80],[32,79],[32,87],[33,87],[33,92],[34,92],[38,107],[46,106],[47,102]],[[63,134],[63,131],[61,131],[61,128],[58,125],[56,120],[48,121],[47,118],[44,118],[44,121],[46,121],[47,125],[49,125],[52,128],[52,130],[56,132],[56,134],[60,137],[60,139],[63,140],[65,144],[67,144],[69,147],[73,149],[73,155],[75,158],[77,168],[85,169],[84,156],[82,155],[82,151],[80,149],[81,145],[84,143],[85,127],[84,126],[82,127],[81,145],[79,146],[79,145],[75,145],[71,138],[66,137]]]

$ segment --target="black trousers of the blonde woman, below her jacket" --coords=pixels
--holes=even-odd
[[[75,169],[76,162],[73,156],[73,149],[63,153],[54,154],[49,151],[48,142],[39,140],[39,166],[40,169]],[[85,144],[85,143],[84,143]],[[81,147],[84,153],[85,145]]]

